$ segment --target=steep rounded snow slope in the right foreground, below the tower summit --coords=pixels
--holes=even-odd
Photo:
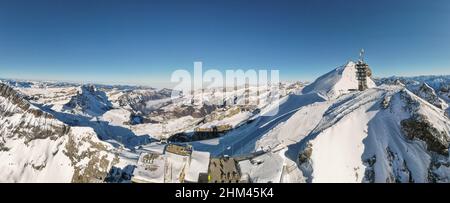
[[[442,134],[410,137],[404,121],[417,115]],[[449,132],[441,109],[403,87],[382,86],[337,100],[302,140],[300,154],[308,153],[300,165],[311,182],[431,182],[448,178],[429,174],[433,159],[448,162],[448,152],[432,146],[448,140]],[[448,142],[443,144],[448,150]]]

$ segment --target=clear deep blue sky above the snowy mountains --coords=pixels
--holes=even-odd
[[[313,80],[362,47],[376,76],[450,74],[450,1],[0,0],[0,78],[153,85],[202,61]]]

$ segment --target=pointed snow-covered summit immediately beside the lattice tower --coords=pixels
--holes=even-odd
[[[371,78],[367,78],[367,85],[369,88],[376,87],[375,82]],[[316,92],[328,98],[337,98],[356,89],[358,89],[356,63],[349,61],[347,64],[317,78],[303,89],[303,93]]]

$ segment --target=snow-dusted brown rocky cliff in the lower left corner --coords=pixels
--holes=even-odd
[[[118,161],[111,148],[0,84],[0,182],[101,181]]]

